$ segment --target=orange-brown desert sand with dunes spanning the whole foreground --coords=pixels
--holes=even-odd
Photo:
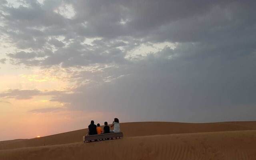
[[[122,139],[83,143],[87,129],[0,142],[0,160],[256,160],[256,122],[121,123]]]

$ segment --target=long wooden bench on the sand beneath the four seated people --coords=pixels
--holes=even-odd
[[[112,138],[122,138],[123,132],[116,132],[116,133],[104,133],[104,134],[94,134],[94,135],[89,135],[89,136],[83,136],[83,141],[85,142],[90,142],[92,140],[98,141],[98,140],[106,140],[106,139],[112,139]]]

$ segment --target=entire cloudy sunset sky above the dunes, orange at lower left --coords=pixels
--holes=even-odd
[[[0,140],[90,120],[256,120],[254,0],[0,0]]]

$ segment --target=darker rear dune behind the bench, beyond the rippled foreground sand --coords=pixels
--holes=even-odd
[[[152,129],[154,128],[154,129]],[[162,129],[164,128],[164,130]],[[216,123],[180,123],[180,122],[128,122],[121,123],[125,137],[150,136],[164,134],[220,132],[234,130],[256,130],[256,122],[216,122]],[[0,143],[0,150],[48,146],[56,144],[69,144],[81,142],[82,136],[88,129],[75,130],[61,134],[54,134],[41,138],[25,139],[21,141],[11,140],[9,143]]]

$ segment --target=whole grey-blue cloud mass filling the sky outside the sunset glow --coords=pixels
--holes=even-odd
[[[53,101],[137,120],[253,120],[255,1],[24,2],[18,8],[0,5],[0,31],[18,49],[31,50],[6,53],[12,64],[100,66],[98,72],[70,72],[78,88],[54,94]],[[74,17],[54,12],[64,4],[74,8]],[[176,48],[126,58],[142,44],[159,42]]]

